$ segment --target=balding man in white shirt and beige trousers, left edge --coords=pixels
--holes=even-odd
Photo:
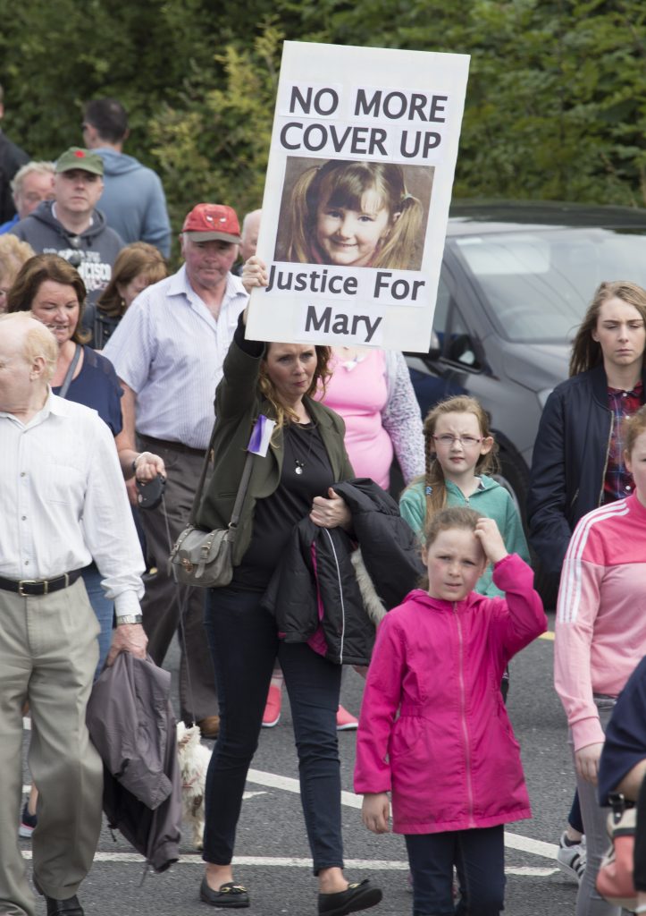
[[[82,916],[76,891],[102,823],[102,762],[85,707],[99,625],[81,569],[94,558],[120,651],[145,657],[144,562],[113,435],[98,414],[56,397],[58,344],[27,313],[0,316],[0,912],[33,916],[16,837],[22,795],[22,707],[40,789],[34,883],[48,916]]]

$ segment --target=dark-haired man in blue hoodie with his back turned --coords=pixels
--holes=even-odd
[[[105,189],[101,209],[108,225],[126,244],[148,242],[170,254],[170,221],[159,176],[123,152],[128,118],[116,99],[94,99],[85,106],[83,139],[101,156]]]

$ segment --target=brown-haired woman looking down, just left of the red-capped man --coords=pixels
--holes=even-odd
[[[125,310],[140,292],[168,276],[167,263],[154,245],[133,242],[116,256],[113,275],[97,300],[86,312],[85,327],[91,328],[93,344],[102,350]]]

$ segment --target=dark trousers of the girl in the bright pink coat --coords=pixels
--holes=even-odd
[[[414,916],[499,916],[504,910],[504,828],[406,834]],[[465,897],[453,902],[453,866]]]

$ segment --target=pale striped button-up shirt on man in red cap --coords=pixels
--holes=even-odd
[[[216,321],[191,288],[186,267],[137,296],[103,356],[135,391],[138,432],[207,447],[215,389],[247,298],[230,273]]]

